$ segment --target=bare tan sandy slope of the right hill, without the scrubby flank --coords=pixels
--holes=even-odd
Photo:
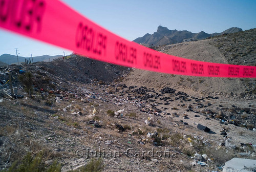
[[[212,44],[215,41],[217,41],[217,38],[163,46],[159,47],[158,50],[163,53],[189,59],[228,63],[226,57]],[[254,82],[253,79],[247,79],[246,81],[249,83]],[[219,95],[221,97],[249,98],[255,100],[253,94],[246,93],[247,86],[241,78],[192,77],[135,69],[129,76],[125,77],[123,83],[127,85],[136,83],[137,85],[157,88],[168,86],[178,90],[181,89],[190,94],[199,93],[205,96]]]

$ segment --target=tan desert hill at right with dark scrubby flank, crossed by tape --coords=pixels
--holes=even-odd
[[[256,29],[251,29],[211,39],[159,46],[155,49],[188,59],[255,66],[255,35]],[[236,39],[236,43],[234,39]],[[123,83],[131,85],[134,82],[146,87],[185,89],[205,96],[222,95],[224,97],[250,99],[256,97],[255,79],[252,78],[191,77],[135,69],[124,79]]]

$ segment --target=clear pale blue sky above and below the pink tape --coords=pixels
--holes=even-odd
[[[53,0],[54,1],[54,0]],[[243,30],[256,28],[255,0],[63,0],[82,15],[100,26],[134,40],[146,33],[153,34],[159,25],[193,33],[222,32],[231,27]],[[0,55],[30,57],[70,54],[72,51],[49,46],[39,41],[0,30]]]

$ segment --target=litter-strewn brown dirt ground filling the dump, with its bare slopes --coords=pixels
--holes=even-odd
[[[213,43],[221,39],[158,50],[228,63]],[[102,70],[93,72],[97,65]],[[20,67],[33,74],[32,98],[17,79]],[[61,171],[100,157],[102,171],[222,171],[233,157],[256,159],[254,78],[167,75],[78,56],[20,67],[0,68],[1,90],[10,92],[3,85],[10,72],[14,89],[24,95],[0,94],[1,169],[22,163],[29,152],[42,152],[45,167],[56,161]]]

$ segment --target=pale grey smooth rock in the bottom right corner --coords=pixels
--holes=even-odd
[[[256,160],[233,158],[225,163],[223,172],[256,171]]]

